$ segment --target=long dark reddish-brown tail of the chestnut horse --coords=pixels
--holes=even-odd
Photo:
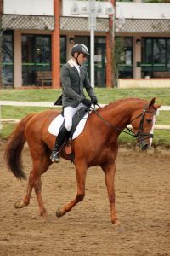
[[[28,114],[16,126],[11,136],[8,138],[7,147],[4,158],[8,169],[13,172],[14,176],[21,179],[26,179],[26,174],[23,172],[21,152],[26,143],[25,129],[28,121],[33,117],[34,113]]]

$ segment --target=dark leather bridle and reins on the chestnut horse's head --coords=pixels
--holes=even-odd
[[[98,105],[98,106],[99,106],[99,105]],[[101,108],[101,107],[99,106],[99,108]],[[131,120],[131,122],[130,122],[130,123],[132,123],[135,119],[141,118],[141,119],[140,119],[140,123],[139,123],[139,129],[138,129],[138,131],[137,131],[136,133],[134,133],[134,131],[133,131],[132,129],[129,129],[127,126],[126,126],[124,129],[122,129],[122,128],[120,128],[120,127],[116,127],[115,125],[113,125],[113,124],[107,122],[105,119],[102,118],[102,116],[101,116],[94,108],[91,107],[91,109],[94,111],[94,113],[96,113],[96,114],[98,115],[99,119],[101,119],[106,125],[109,125],[111,128],[113,128],[113,129],[115,129],[115,130],[117,130],[117,131],[122,131],[122,132],[124,132],[124,133],[126,133],[126,134],[128,134],[128,135],[130,135],[130,136],[132,136],[132,137],[137,138],[137,140],[138,140],[140,143],[142,143],[142,141],[144,141],[145,139],[153,138],[153,134],[152,134],[152,133],[143,132],[143,130],[144,130],[144,117],[145,117],[145,114],[146,114],[146,113],[153,113],[153,114],[156,114],[156,111],[146,110],[146,108],[147,108],[147,105],[144,106],[143,112],[140,113],[140,114],[139,114],[138,116],[136,116],[135,118],[133,118],[133,119]],[[127,131],[124,131],[125,129],[127,129]]]

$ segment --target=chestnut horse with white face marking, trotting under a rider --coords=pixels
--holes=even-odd
[[[87,170],[90,166],[100,166],[105,173],[105,184],[111,207],[111,223],[115,226],[121,224],[116,214],[114,189],[118,137],[127,125],[131,124],[132,131],[127,131],[127,133],[129,132],[137,139],[143,150],[150,148],[156,122],[156,111],[161,106],[157,105],[155,101],[156,98],[151,99],[150,102],[139,98],[124,98],[111,102],[103,108],[94,109],[89,114],[84,130],[71,144],[72,152],[75,155],[77,195],[72,201],[56,210],[57,217],[65,215],[83,200]],[[55,136],[49,134],[48,126],[57,115],[59,112],[54,109],[28,114],[20,120],[8,138],[5,149],[8,169],[16,178],[26,178],[22,168],[21,152],[27,141],[31,153],[32,169],[26,195],[22,200],[16,201],[14,207],[28,206],[32,189],[34,189],[40,215],[44,218],[47,218],[48,215],[42,201],[41,175],[53,164],[50,160],[50,153],[54,148]],[[62,148],[60,154],[62,158],[70,160],[65,153],[65,148]]]

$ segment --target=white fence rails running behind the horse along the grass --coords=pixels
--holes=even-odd
[[[105,104],[99,104],[104,107]],[[14,102],[14,101],[0,101],[0,130],[3,129],[3,123],[19,123],[20,119],[2,119],[2,106],[15,106],[15,107],[42,107],[42,108],[61,108],[61,106],[55,106],[54,102]],[[170,106],[161,106],[158,111],[170,111]],[[157,130],[170,130],[170,125],[156,125]]]

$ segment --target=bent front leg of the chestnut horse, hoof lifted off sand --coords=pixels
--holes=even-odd
[[[66,204],[63,207],[58,207],[56,211],[56,216],[61,217],[65,215],[66,212],[70,212],[72,207],[75,207],[79,201],[82,201],[85,196],[85,181],[87,174],[87,166],[82,163],[77,163],[76,165],[76,175],[77,175],[77,196],[76,198]]]

